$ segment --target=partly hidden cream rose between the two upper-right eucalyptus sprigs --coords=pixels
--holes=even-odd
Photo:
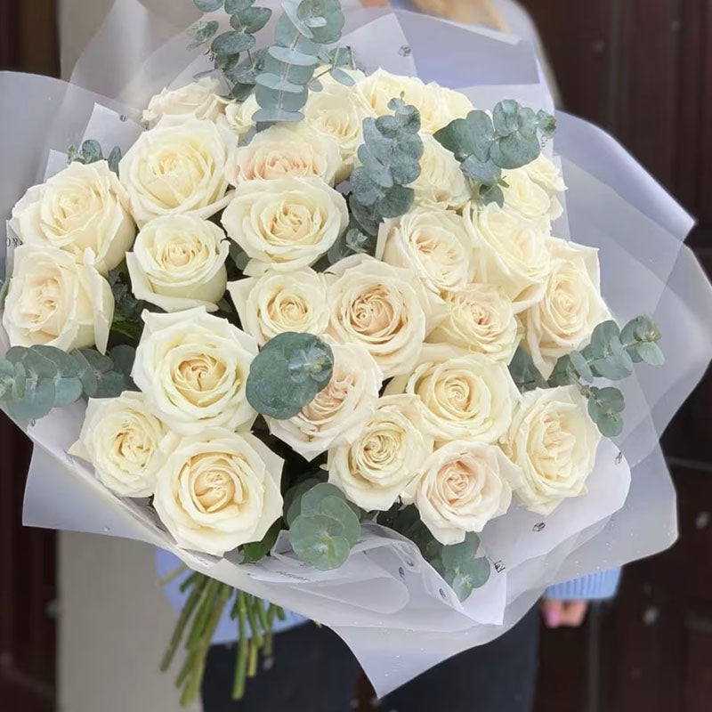
[[[460,164],[433,136],[421,134],[420,137],[423,139],[420,175],[410,184],[416,192],[416,204],[459,210],[472,198]]]

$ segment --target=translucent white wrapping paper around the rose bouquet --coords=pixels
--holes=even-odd
[[[0,74],[0,148],[10,158],[6,165],[13,166],[0,181],[4,214],[29,184],[61,164],[54,154],[47,167],[50,150],[63,152],[84,135],[126,149],[138,130],[135,109],[164,85],[189,81],[206,68],[198,54],[183,70],[191,58],[181,22],[196,15],[184,10],[182,17],[169,5],[176,4],[117,0],[74,69],[72,80],[88,89]],[[464,90],[482,108],[510,97],[537,108],[553,105],[526,43],[410,12],[347,5],[345,42],[369,68],[437,79]],[[615,443],[603,441],[587,496],[565,502],[548,517],[513,506],[490,522],[481,546],[492,574],[465,603],[416,546],[373,525],[364,527],[349,561],[329,572],[306,567],[284,536],[270,559],[251,566],[231,562],[230,555],[218,561],[177,549],[145,503],[114,497],[91,468],[66,455],[82,422],[81,404],[27,428],[37,447],[25,523],[147,541],[193,569],[317,619],[352,647],[379,695],[457,651],[501,635],[547,585],[669,546],[676,538],[675,491],[657,443],[712,355],[712,291],[684,246],[690,216],[610,136],[565,114],[558,120],[554,150],[569,190],[565,217],[554,229],[600,247],[603,295],[611,311],[619,320],[651,312],[663,333],[667,363],[655,369],[641,365],[625,382],[626,430]]]

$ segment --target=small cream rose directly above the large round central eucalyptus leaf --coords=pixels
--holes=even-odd
[[[259,279],[230,282],[228,291],[242,328],[260,346],[288,331],[320,335],[328,327],[327,282],[310,267],[266,271]]]

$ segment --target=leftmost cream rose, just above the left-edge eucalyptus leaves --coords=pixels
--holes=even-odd
[[[103,353],[113,318],[111,287],[89,250],[83,265],[57,247],[15,250],[3,314],[12,346],[45,344],[69,352],[96,344]]]

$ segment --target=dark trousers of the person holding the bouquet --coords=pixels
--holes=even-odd
[[[382,700],[383,712],[530,712],[538,661],[538,612],[532,609],[496,641],[456,655]],[[205,712],[348,712],[360,666],[328,628],[312,624],[275,637],[275,665],[247,680],[231,700],[234,646],[209,654]]]

